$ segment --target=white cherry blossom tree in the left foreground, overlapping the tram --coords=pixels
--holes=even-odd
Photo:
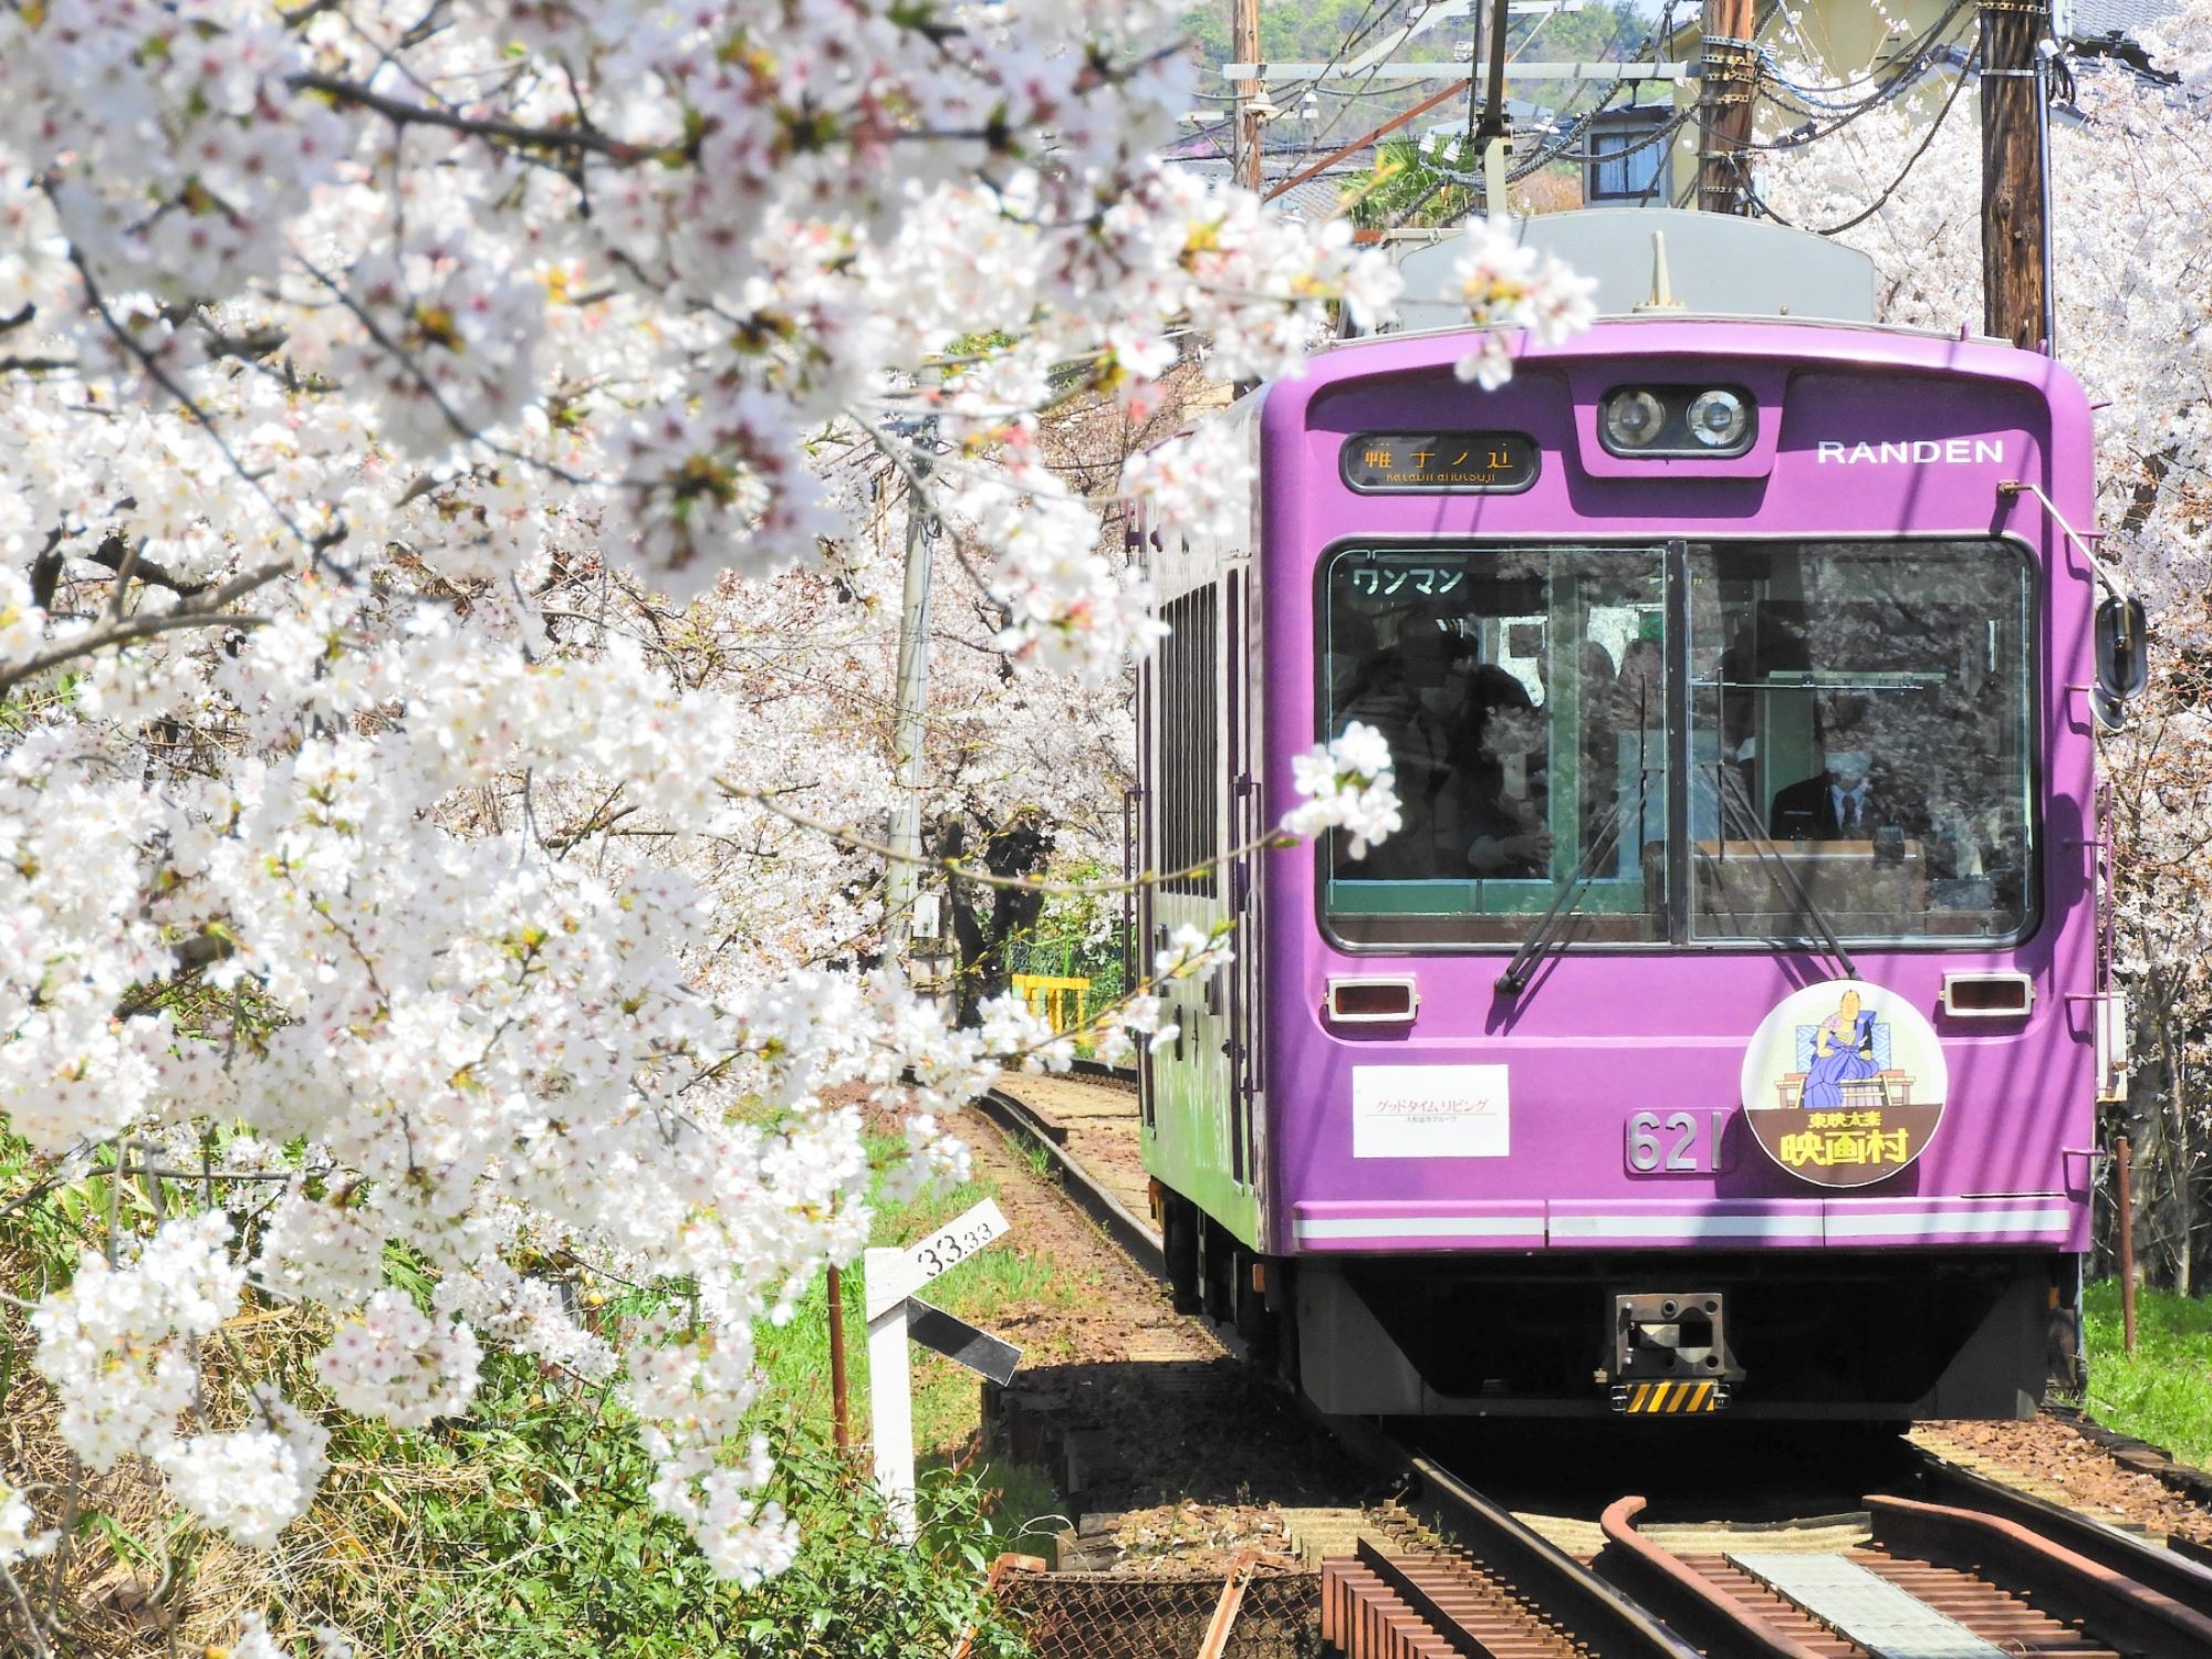
[[[237,1363],[226,1407],[208,1356],[303,1303],[336,1409],[460,1413],[507,1345],[617,1387],[717,1573],[790,1559],[752,1329],[865,1239],[856,1102],[911,1183],[998,1064],[1066,1055],[856,967],[885,549],[942,522],[956,655],[1048,712],[1159,633],[1102,518],[1248,489],[1203,429],[1071,484],[1051,414],[1141,422],[1190,349],[1294,374],[1396,292],[1345,226],[1152,159],[1188,104],[1159,20],[0,0],[0,1115],[46,1186],[197,1194],[31,1310],[84,1469],[270,1544],[321,1407]],[[1475,321],[1586,319],[1482,248]],[[1000,743],[975,787],[1040,763]],[[1298,787],[1292,832],[1394,825],[1371,734]],[[1228,949],[1172,940],[1124,1040]],[[577,1274],[688,1312],[586,1323]],[[0,1471],[33,1650],[46,1498]]]

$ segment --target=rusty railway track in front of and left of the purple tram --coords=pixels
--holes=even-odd
[[[1062,1190],[1141,1267],[1159,1237],[1124,1170],[1102,1181],[1066,1124],[1009,1091],[984,1102],[1042,1148]],[[1469,1486],[1436,1455],[1365,1422],[1329,1422],[1360,1462],[1394,1478],[1405,1517],[1356,1537],[1318,1573],[1318,1637],[1343,1659],[2203,1659],[2212,1564],[1989,1480],[1922,1447],[1882,1491],[1827,1513],[1818,1546],[1774,1548],[1776,1524],[1666,1526],[1624,1493],[1595,1515],[1584,1559]],[[1024,1590],[1031,1604],[1042,1595]],[[1230,1624],[1206,1648],[1234,1659]],[[1126,1635],[1126,1632],[1124,1632]],[[1159,1648],[1177,1652],[1181,1648]],[[1261,1652],[1261,1648],[1250,1648]],[[1146,1652],[1113,1632],[1064,1628],[1042,1659]],[[1197,1652],[1197,1648],[1192,1648]],[[1283,1648],[1290,1652],[1290,1648]]]

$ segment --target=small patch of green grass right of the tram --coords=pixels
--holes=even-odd
[[[2119,1281],[2084,1292],[2088,1409],[2197,1469],[2212,1469],[2212,1298],[2135,1294],[2135,1354],[2121,1352]]]

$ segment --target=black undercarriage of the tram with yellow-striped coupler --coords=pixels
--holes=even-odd
[[[1161,1210],[1179,1301],[1329,1413],[2031,1418],[2079,1347],[2053,1252],[1285,1261]]]

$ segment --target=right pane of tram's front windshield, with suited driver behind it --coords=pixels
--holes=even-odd
[[[2028,639],[2004,542],[1694,549],[1692,931],[2022,933]]]

